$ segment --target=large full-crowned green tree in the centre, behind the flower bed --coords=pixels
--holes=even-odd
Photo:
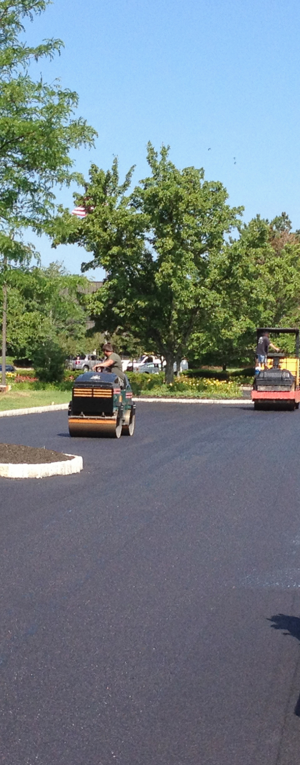
[[[231,208],[226,189],[205,181],[203,170],[178,170],[168,148],[158,157],[149,143],[147,158],[152,174],[132,194],[126,192],[133,168],[119,185],[116,160],[106,173],[93,165],[76,197],[89,214],[57,241],[93,253],[83,270],[106,269],[103,288],[90,296],[96,328],[129,332],[145,350],[165,356],[171,382],[174,362],[179,367],[195,327],[214,306],[215,262],[242,208]]]

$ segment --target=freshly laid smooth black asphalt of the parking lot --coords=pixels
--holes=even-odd
[[[298,765],[300,412],[137,409],[0,421],[84,463],[0,479],[0,763]]]

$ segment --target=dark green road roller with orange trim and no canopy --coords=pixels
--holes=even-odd
[[[125,376],[112,372],[86,372],[73,384],[68,412],[71,436],[120,438],[133,435],[135,403]]]

